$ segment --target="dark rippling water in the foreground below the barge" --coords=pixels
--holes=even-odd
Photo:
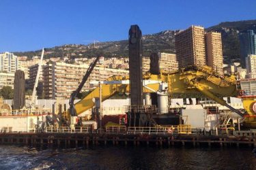
[[[256,158],[250,148],[0,146],[0,169],[256,169]]]

